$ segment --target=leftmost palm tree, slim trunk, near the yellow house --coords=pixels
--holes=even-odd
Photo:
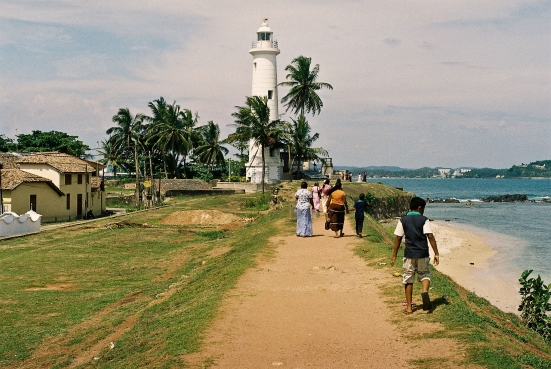
[[[143,121],[145,116],[143,114],[136,114],[132,116],[128,108],[120,108],[119,112],[113,116],[113,122],[117,123],[117,126],[109,128],[106,133],[110,135],[115,148],[118,148],[120,152],[133,149],[134,151],[134,164],[136,166],[136,205],[140,206],[140,168],[138,166],[138,141],[140,135],[143,133]]]

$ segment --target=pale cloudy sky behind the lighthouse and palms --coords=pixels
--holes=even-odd
[[[333,86],[308,121],[337,167],[551,159],[551,1],[537,0],[0,0],[0,134],[94,148],[119,108],[162,96],[225,138],[263,18],[279,82],[303,55]]]

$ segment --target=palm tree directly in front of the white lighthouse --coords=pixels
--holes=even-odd
[[[236,106],[236,135],[241,140],[253,140],[260,146],[262,153],[262,192],[266,174],[265,149],[277,148],[283,138],[283,123],[280,120],[270,120],[270,108],[266,96],[250,96],[246,98],[245,106]]]

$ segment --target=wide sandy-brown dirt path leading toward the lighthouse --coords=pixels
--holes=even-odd
[[[362,240],[348,223],[344,232],[332,237],[318,218],[315,237],[274,239],[275,258],[242,277],[205,349],[185,360],[196,368],[410,368],[411,359],[440,358],[454,367],[454,341],[410,341],[391,322],[409,319],[417,334],[441,329],[423,323],[422,312],[389,308],[379,286],[399,282],[366,266],[353,253]]]

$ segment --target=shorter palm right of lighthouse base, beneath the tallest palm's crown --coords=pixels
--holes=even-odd
[[[310,135],[310,124],[304,117],[300,115],[297,120],[291,119],[292,123],[287,129],[288,144],[291,148],[291,152],[294,153],[293,161],[291,165],[291,174],[293,173],[293,162],[297,162],[297,174],[300,171],[300,163],[306,160],[320,160],[323,161],[324,157],[327,157],[327,150],[321,147],[312,147],[313,143],[319,138],[319,133]]]

